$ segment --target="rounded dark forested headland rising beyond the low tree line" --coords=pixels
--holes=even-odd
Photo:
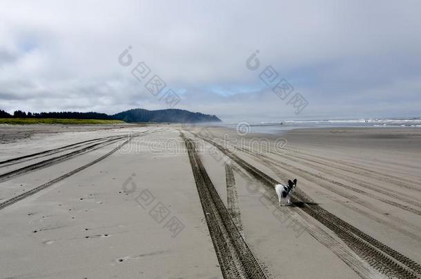
[[[200,112],[189,112],[187,110],[127,110],[114,114],[112,119],[126,122],[173,122],[173,123],[193,123],[193,122],[221,122],[215,115],[202,114]]]

